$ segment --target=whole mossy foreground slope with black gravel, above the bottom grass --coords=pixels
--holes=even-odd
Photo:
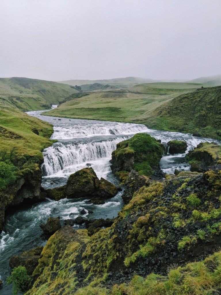
[[[37,280],[27,294],[75,294],[77,288],[91,283],[94,278],[90,286],[97,286],[101,281],[106,281],[108,286],[124,283],[134,274],[144,277],[156,273],[149,276],[163,280],[168,265],[183,265],[199,255],[212,253],[220,245],[221,236],[220,166],[204,174],[190,173],[188,178],[182,172],[180,174],[182,176],[164,182],[145,183],[133,194],[113,224],[107,225],[104,219],[87,222],[89,234],[92,234],[90,239],[87,231],[74,231],[71,227],[57,231],[42,251],[33,273],[33,280]],[[104,226],[110,227],[102,229]],[[205,273],[206,265],[217,269],[220,262],[211,259],[208,258],[203,269],[200,262],[188,282],[195,278],[198,267],[200,274]],[[192,270],[194,266],[188,264],[186,271],[188,267]],[[181,271],[179,282],[174,278],[178,286],[184,275]],[[187,286],[187,282],[184,285]],[[165,285],[165,288],[169,286]],[[193,287],[196,288],[195,284]],[[190,292],[192,289],[184,294]],[[113,293],[116,294],[120,293]]]

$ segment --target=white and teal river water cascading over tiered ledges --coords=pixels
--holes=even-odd
[[[56,107],[56,106],[52,106]],[[64,185],[71,173],[84,167],[92,167],[97,176],[106,178],[118,185],[118,180],[110,169],[111,153],[116,149],[116,144],[128,139],[138,132],[145,132],[160,139],[162,143],[170,140],[185,140],[188,150],[192,150],[200,142],[218,142],[217,140],[194,137],[191,134],[150,130],[142,124],[118,123],[96,120],[67,119],[41,115],[43,111],[27,112],[30,116],[37,117],[54,125],[52,139],[56,139],[49,148],[43,151],[44,163],[42,164],[42,186],[53,188]],[[187,171],[189,165],[185,163],[185,154],[169,155],[162,157],[161,169],[174,173],[175,169]],[[87,212],[83,216],[90,218],[113,218],[123,206],[122,191],[108,199],[103,205],[89,203],[87,196],[81,199],[62,199],[54,201],[47,199],[34,205],[21,205],[11,209],[6,214],[4,231],[0,234],[0,279],[4,287],[0,289],[2,295],[11,294],[11,286],[6,286],[5,279],[11,269],[9,259],[38,245],[45,245],[39,224],[46,222],[49,217],[60,216],[62,220],[75,218],[80,211]],[[93,213],[88,214],[88,211]],[[76,226],[77,228],[77,226]]]

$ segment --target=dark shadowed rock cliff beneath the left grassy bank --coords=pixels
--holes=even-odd
[[[10,187],[0,191],[0,232],[4,225],[5,210],[22,202],[35,203],[45,199],[40,187],[42,174],[37,166],[34,171],[24,171],[23,175]]]

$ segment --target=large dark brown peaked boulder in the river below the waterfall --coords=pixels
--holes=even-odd
[[[118,189],[104,178],[99,180],[93,168],[83,168],[71,174],[65,186],[45,191],[49,198],[56,201],[62,198],[90,196],[96,197],[102,203],[105,199],[114,197]]]

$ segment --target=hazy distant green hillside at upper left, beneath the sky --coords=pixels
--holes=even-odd
[[[23,111],[48,109],[77,90],[70,85],[29,79],[0,78],[0,103],[15,106]]]

